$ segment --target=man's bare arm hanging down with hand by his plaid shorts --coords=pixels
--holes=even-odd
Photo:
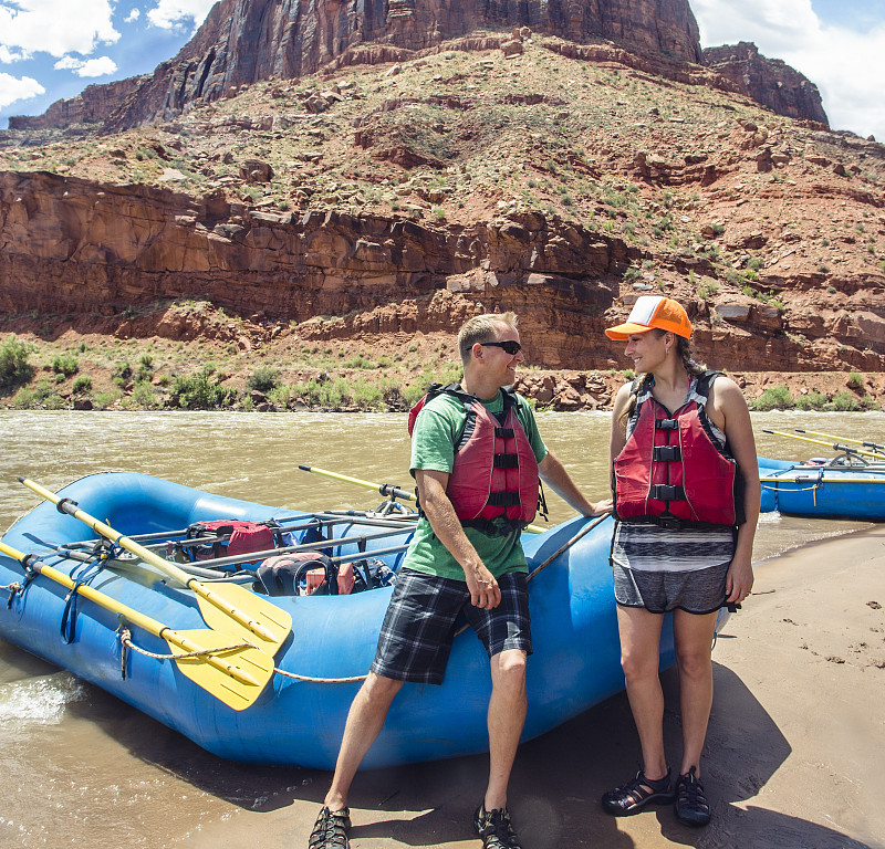
[[[483,610],[498,607],[501,602],[498,581],[486,568],[476,548],[467,538],[455,512],[455,506],[446,494],[448,473],[416,469],[415,481],[418,484],[421,510],[427,516],[430,527],[439,542],[446,546],[464,569],[467,588],[470,590],[470,604]]]

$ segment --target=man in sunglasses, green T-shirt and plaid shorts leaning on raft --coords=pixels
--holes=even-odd
[[[517,316],[470,318],[458,348],[460,388],[428,398],[415,420],[412,472],[423,516],[372,669],[351,705],[310,849],[348,846],[354,775],[403,682],[442,682],[459,611],[486,646],[492,682],[489,783],[473,826],[487,849],[519,849],[507,786],[525,721],[525,659],[532,651],[520,532],[534,516],[539,476],[585,516],[610,510],[611,501],[592,504],[579,492],[541,440],[528,402],[504,390],[524,360]]]

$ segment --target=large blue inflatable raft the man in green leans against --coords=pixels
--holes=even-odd
[[[180,539],[183,530],[198,521],[259,522],[284,516],[281,524],[290,528],[290,543],[315,539],[319,526],[326,535],[334,532],[335,538],[323,548],[330,556],[383,559],[394,573],[413,527],[408,518],[375,514],[292,513],[125,472],[90,475],[59,495],[122,534],[153,539]],[[589,523],[575,518],[524,537],[530,569],[549,560],[529,584],[535,653],[529,661],[524,740],[624,686],[608,566],[612,521],[598,521],[575,539]],[[190,589],[121,553],[112,551],[108,559],[96,560],[87,542],[95,536],[83,522],[43,502],[15,522],[2,542],[8,549],[35,555],[38,567],[53,567],[73,581],[82,579],[92,590],[176,631],[207,632]],[[62,546],[66,548],[59,551]],[[74,597],[46,574],[32,568],[25,579],[22,563],[0,555],[0,587],[4,587],[0,590],[0,638],[113,693],[221,757],[334,766],[347,710],[374,656],[389,587],[350,595],[257,595],[262,605],[291,616],[291,633],[274,650],[273,671],[260,694],[246,709],[235,710],[216,698],[211,686],[201,686],[198,677],[195,681],[183,673],[181,665],[169,659],[166,639],[88,597]],[[206,581],[211,586],[210,578]],[[256,595],[251,583],[239,586]],[[720,626],[727,614],[721,616]],[[132,643],[142,651],[124,649],[122,626],[129,627]],[[201,662],[192,661],[197,667]],[[673,662],[667,625],[662,664]],[[488,659],[467,629],[455,638],[442,685],[404,685],[365,765],[486,751],[489,693]]]

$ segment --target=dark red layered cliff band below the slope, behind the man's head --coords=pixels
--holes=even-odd
[[[561,367],[602,338],[626,259],[618,240],[540,214],[468,228],[293,218],[217,196],[0,174],[0,311],[10,314],[114,315],[206,298],[278,321],[345,316],[329,332],[350,336],[450,329],[451,314],[427,311],[449,293],[462,310],[516,308],[545,327],[535,361]]]

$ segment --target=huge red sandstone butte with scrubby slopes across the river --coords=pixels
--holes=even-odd
[[[686,0],[223,0],[153,74],[0,133],[0,333],[408,381],[514,310],[522,388],[580,409],[662,292],[750,397],[858,373],[882,402],[884,205],[885,147],[752,44],[701,50]]]

